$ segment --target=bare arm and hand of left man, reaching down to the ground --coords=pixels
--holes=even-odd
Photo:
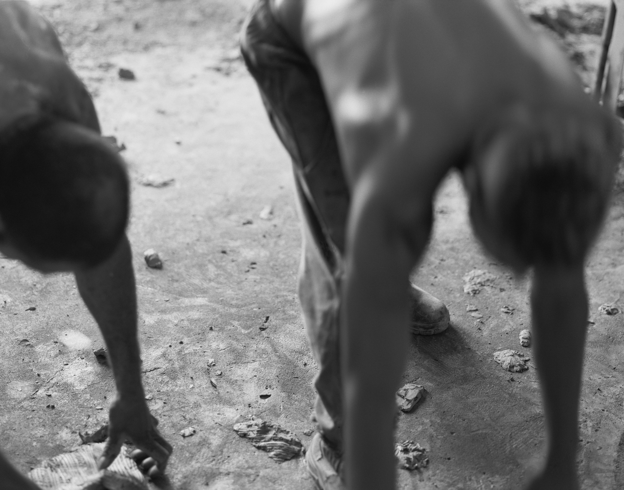
[[[77,271],[76,282],[104,336],[117,386],[117,398],[110,407],[109,443],[100,466],[109,466],[125,438],[129,438],[157,461],[160,471],[164,471],[172,448],[158,433],[157,421],[145,403],[137,339],[137,298],[128,239],[124,236],[117,251],[100,266]]]

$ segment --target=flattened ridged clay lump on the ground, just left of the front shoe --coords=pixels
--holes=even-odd
[[[290,430],[263,420],[250,420],[234,425],[236,433],[251,441],[253,447],[269,453],[269,457],[283,463],[301,454],[301,441]]]

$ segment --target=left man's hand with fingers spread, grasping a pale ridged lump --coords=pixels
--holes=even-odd
[[[110,406],[109,439],[100,457],[99,468],[108,468],[125,440],[130,440],[139,449],[131,456],[148,476],[164,473],[173,448],[160,435],[157,425],[158,420],[150,415],[145,400],[117,396]]]

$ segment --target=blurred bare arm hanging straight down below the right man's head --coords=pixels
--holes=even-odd
[[[576,490],[578,397],[587,329],[583,267],[536,268],[531,300],[548,446],[544,468],[528,488]]]

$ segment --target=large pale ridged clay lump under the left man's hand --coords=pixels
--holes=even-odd
[[[105,443],[80,446],[72,453],[46,459],[29,478],[42,490],[149,490],[147,480],[126,448],[107,469],[97,469]]]

